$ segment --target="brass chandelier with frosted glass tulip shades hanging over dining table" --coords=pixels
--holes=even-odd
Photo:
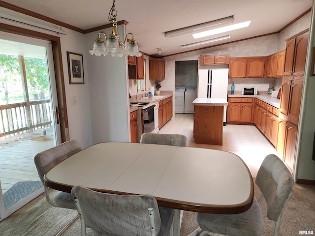
[[[97,38],[94,41],[94,46],[92,50],[89,50],[91,55],[99,57],[100,55],[111,55],[112,57],[126,57],[126,56],[137,56],[141,57],[142,53],[139,52],[137,41],[133,38],[132,33],[127,33],[124,42],[119,40],[117,21],[116,21],[117,11],[115,8],[115,0],[113,0],[112,8],[108,14],[108,20],[113,24],[112,33],[107,36],[106,32],[100,31]],[[101,37],[104,35],[104,39]],[[127,39],[127,36],[131,35],[132,39]],[[127,44],[126,44],[127,41]]]

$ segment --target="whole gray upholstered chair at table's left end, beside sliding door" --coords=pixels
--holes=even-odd
[[[82,150],[80,143],[75,140],[70,140],[60,144],[54,148],[42,151],[35,155],[34,162],[41,182],[44,185],[45,196],[47,202],[53,207],[62,207],[67,209],[76,209],[73,197],[70,193],[62,191],[57,192],[52,198],[49,194],[49,189],[45,185],[44,175],[49,172],[53,167],[58,165],[60,162],[72,156],[73,154]],[[79,216],[72,219],[58,234],[61,235],[64,230],[69,227]]]

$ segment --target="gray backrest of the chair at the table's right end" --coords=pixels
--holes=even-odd
[[[290,171],[278,156],[270,154],[262,162],[255,182],[267,202],[268,219],[277,221],[293,189]]]

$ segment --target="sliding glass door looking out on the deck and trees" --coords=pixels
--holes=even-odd
[[[61,143],[50,42],[0,32],[0,220],[43,192],[33,157]]]

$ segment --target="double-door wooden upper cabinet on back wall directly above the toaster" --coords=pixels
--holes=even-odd
[[[231,58],[229,78],[263,78],[265,57]]]

